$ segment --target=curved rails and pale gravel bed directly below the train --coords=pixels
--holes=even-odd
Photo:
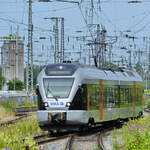
[[[114,127],[118,127],[118,123],[111,126],[105,124],[104,126],[89,128],[83,132],[58,137],[46,137],[36,140],[36,143],[43,145],[44,148],[40,150],[106,150],[107,148],[103,145],[104,133],[113,130]]]

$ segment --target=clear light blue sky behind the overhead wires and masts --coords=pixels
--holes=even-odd
[[[69,42],[65,40],[65,47],[66,51],[68,51],[68,57],[74,59],[74,56],[69,54],[69,52],[70,49],[74,49],[75,38],[73,37],[83,36],[87,32],[85,12],[88,7],[88,0],[74,1],[82,2],[81,7],[75,3],[56,2],[55,0],[53,2],[38,2],[38,0],[33,0],[32,18],[35,61],[42,57],[40,61],[41,63],[42,61],[45,63],[53,55],[51,51],[53,41],[50,41],[50,37],[54,37],[54,33],[52,32],[54,22],[51,19],[44,19],[51,17],[64,17],[65,38],[70,37]],[[128,33],[127,31],[130,30],[131,32],[128,34],[136,36],[138,39],[142,39],[144,36],[149,37],[149,0],[139,0],[140,3],[128,3],[129,0],[100,0],[100,10],[97,5],[98,1],[94,0],[93,22],[95,24],[103,24],[108,36],[121,37],[121,35]],[[0,0],[0,2],[0,37],[8,36],[10,33],[16,34],[17,25],[19,25],[19,35],[25,37],[25,60],[27,60],[28,2],[27,0]],[[39,40],[39,37],[43,36],[47,40]],[[124,39],[120,38],[119,42],[123,44]],[[0,46],[2,43],[0,41]],[[138,44],[139,42],[137,42]],[[80,42],[76,44],[76,49],[72,52],[76,53],[79,45]],[[79,58],[79,55],[76,53],[76,59],[77,57]],[[52,62],[53,60],[50,61]]]

